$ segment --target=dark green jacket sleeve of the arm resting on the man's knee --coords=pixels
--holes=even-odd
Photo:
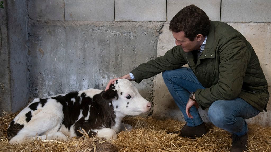
[[[197,89],[196,101],[202,108],[208,108],[217,100],[237,98],[250,59],[249,49],[239,37],[226,39],[218,48],[219,80],[209,88]]]

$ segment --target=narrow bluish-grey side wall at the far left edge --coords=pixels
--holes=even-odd
[[[28,103],[27,3],[5,1],[1,9],[0,107],[16,112]]]

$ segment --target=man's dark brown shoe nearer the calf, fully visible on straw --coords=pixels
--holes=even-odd
[[[202,137],[206,134],[205,123],[202,123],[195,127],[189,127],[185,124],[185,126],[180,131],[170,132],[170,134],[180,134],[179,136],[184,138],[195,139],[196,137]]]

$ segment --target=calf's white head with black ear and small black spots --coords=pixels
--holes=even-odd
[[[127,79],[118,79],[102,94],[105,100],[112,99],[114,110],[125,115],[139,115],[150,110],[151,103],[144,99],[137,88]]]

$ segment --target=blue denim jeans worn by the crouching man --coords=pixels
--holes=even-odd
[[[189,118],[185,112],[190,92],[204,89],[193,71],[186,67],[164,71],[163,79],[175,103],[182,111],[187,125],[194,127],[202,124],[203,120],[195,106],[190,109],[193,119]],[[218,100],[212,103],[208,110],[208,118],[215,126],[237,136],[242,136],[248,131],[244,119],[252,118],[259,113],[259,110],[243,99],[235,98],[234,100]]]

